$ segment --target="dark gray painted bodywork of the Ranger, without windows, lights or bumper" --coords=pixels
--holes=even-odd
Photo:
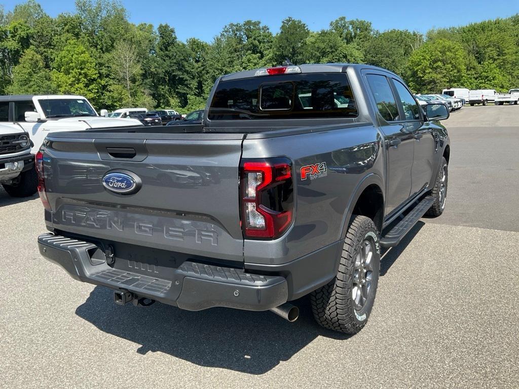
[[[305,263],[305,271],[312,273],[315,269],[307,265],[320,263],[321,249],[344,239],[353,207],[365,188],[379,188],[387,220],[409,204],[416,190],[432,187],[448,136],[439,122],[427,122],[421,114],[418,120],[392,123],[381,118],[364,75],[398,79],[393,73],[344,64],[304,65],[302,71],[345,72],[358,116],[218,122],[207,119],[206,109],[204,124],[190,132],[170,126],[171,130],[159,129],[158,133],[147,128],[119,128],[51,134],[45,149],[53,210],[47,217],[48,227],[84,239],[227,260],[241,268],[265,266],[267,272],[285,264]],[[403,113],[401,106],[399,111]],[[403,141],[393,147],[394,138]],[[133,149],[135,155],[121,158],[113,152],[117,148]],[[286,157],[293,163],[292,225],[276,240],[243,239],[240,161],[274,157]],[[302,166],[316,163],[326,164],[326,175],[303,180]],[[142,188],[129,196],[106,190],[102,177],[118,169],[140,177]],[[300,258],[305,260],[296,261]],[[337,255],[334,260],[338,259]],[[334,269],[320,269],[316,280],[330,279]],[[296,289],[307,290],[299,284]],[[289,298],[294,291],[289,290]]]

